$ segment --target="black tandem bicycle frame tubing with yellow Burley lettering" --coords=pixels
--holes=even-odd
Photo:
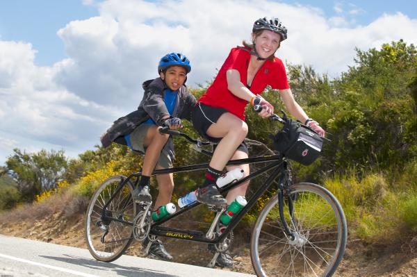
[[[267,165],[267,166],[261,168],[261,169],[258,169],[257,171],[254,171],[252,174],[250,174],[249,176],[247,176],[245,178],[240,179],[236,183],[232,183],[232,184],[229,184],[229,185],[226,185],[226,186],[220,188],[221,193],[222,192],[227,192],[227,191],[233,189],[234,187],[238,187],[239,185],[245,183],[246,181],[250,181],[252,178],[255,178],[256,176],[259,176],[260,174],[263,174],[266,171],[270,171],[272,169],[275,169],[272,172],[272,174],[270,174],[270,176],[268,176],[268,179],[265,181],[265,183],[263,183],[263,185],[261,185],[261,187],[259,187],[259,189],[256,190],[254,195],[252,195],[252,197],[249,199],[249,201],[247,202],[247,205],[245,205],[243,210],[241,210],[237,215],[235,215],[231,219],[231,221],[227,225],[227,228],[225,228],[225,230],[223,231],[223,233],[221,235],[219,235],[219,236],[215,235],[213,238],[208,238],[201,231],[181,230],[181,229],[177,229],[177,228],[170,228],[170,227],[161,226],[161,224],[165,223],[166,221],[169,221],[170,219],[172,219],[174,217],[177,217],[177,216],[183,214],[183,212],[186,212],[188,210],[191,210],[191,209],[197,207],[198,205],[201,204],[199,202],[195,202],[195,203],[191,203],[190,205],[186,205],[185,207],[181,208],[181,210],[175,212],[174,214],[169,215],[167,217],[164,217],[160,221],[154,222],[151,226],[151,230],[149,231],[149,235],[158,235],[158,236],[163,236],[163,237],[177,238],[177,239],[181,239],[181,240],[190,240],[190,241],[195,241],[195,242],[205,242],[205,243],[210,243],[210,244],[217,244],[218,242],[221,242],[222,240],[224,240],[224,238],[231,232],[231,230],[233,230],[238,225],[238,223],[240,222],[241,219],[243,219],[245,214],[256,204],[256,201],[259,199],[259,197],[261,197],[261,195],[263,193],[265,193],[270,188],[270,186],[272,185],[272,182],[275,181],[275,179],[279,177],[279,181],[278,181],[279,186],[277,187],[277,189],[278,189],[278,193],[280,194],[279,195],[279,199],[280,199],[279,210],[280,210],[280,214],[281,214],[281,222],[284,226],[284,231],[285,231],[286,235],[292,237],[291,231],[288,228],[288,224],[284,220],[284,212],[283,212],[283,208],[282,208],[282,199],[283,199],[284,187],[286,187],[286,183],[288,181],[288,176],[286,174],[286,172],[287,172],[287,161],[284,160],[281,155],[272,155],[272,156],[261,156],[261,157],[252,157],[252,158],[239,159],[239,160],[231,160],[227,163],[227,165],[245,165],[245,164],[252,164],[252,163],[257,163],[257,162],[272,162],[272,163],[270,165]],[[155,170],[152,175],[179,173],[179,172],[183,172],[183,171],[195,171],[195,170],[206,169],[207,167],[208,167],[208,163],[199,164],[199,165],[183,166],[183,167],[173,167],[173,168],[170,168],[170,169],[158,169],[158,170]],[[133,225],[133,222],[124,221],[122,219],[117,219],[117,218],[114,218],[114,217],[108,217],[106,215],[106,208],[108,206],[108,203],[111,203],[114,196],[120,190],[122,190],[122,187],[128,181],[130,181],[131,178],[136,178],[136,182],[135,182],[135,187],[136,187],[136,185],[138,183],[138,178],[141,175],[142,174],[140,172],[131,174],[126,179],[124,179],[124,181],[122,181],[118,185],[114,194],[111,196],[111,198],[108,200],[108,202],[103,207],[103,212],[101,214],[101,219],[103,221],[118,221],[122,224]],[[131,196],[129,196],[129,198],[130,197]],[[129,199],[129,201],[130,201],[130,199]],[[129,201],[126,201],[126,202],[129,202]],[[291,202],[291,199],[290,199],[290,202]],[[290,204],[290,215],[292,215],[292,205],[291,204]]]

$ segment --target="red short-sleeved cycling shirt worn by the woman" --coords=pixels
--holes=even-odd
[[[250,62],[250,53],[243,49],[231,49],[229,56],[224,61],[222,68],[215,77],[213,84],[208,87],[205,94],[198,102],[212,107],[220,107],[228,110],[242,120],[245,120],[245,106],[247,101],[235,96],[227,89],[226,72],[229,69],[236,69],[240,73],[240,82],[247,85],[247,67]],[[265,60],[262,67],[256,72],[250,91],[254,94],[261,94],[265,87],[270,85],[273,89],[285,90],[289,88],[288,80],[283,62],[279,58]]]

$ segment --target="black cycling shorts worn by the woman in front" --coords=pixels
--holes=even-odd
[[[207,135],[207,130],[210,128],[211,124],[215,124],[225,112],[229,111],[224,108],[217,108],[207,106],[203,103],[197,103],[195,109],[193,110],[191,121],[193,121],[193,126],[199,135],[204,137],[206,140],[209,140],[210,142],[218,143],[220,140],[222,140],[222,137],[211,137]],[[242,142],[236,150],[243,151],[247,154],[249,153],[245,142]]]

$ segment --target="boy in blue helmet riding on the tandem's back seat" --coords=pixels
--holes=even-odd
[[[126,144],[134,151],[145,153],[142,167],[142,177],[138,188],[133,191],[136,202],[151,201],[149,194],[149,178],[154,169],[172,167],[174,159],[174,144],[167,134],[159,133],[161,126],[171,129],[181,128],[181,119],[191,119],[191,111],[195,97],[188,92],[184,85],[187,74],[191,71],[190,61],[181,53],[169,53],[158,64],[159,78],[143,83],[145,92],[138,110],[121,117],[101,137],[104,147],[117,142]],[[158,182],[158,197],[154,210],[170,203],[174,179],[172,174],[156,176]],[[160,240],[142,242],[143,246],[151,243],[149,254],[162,260],[172,260]]]

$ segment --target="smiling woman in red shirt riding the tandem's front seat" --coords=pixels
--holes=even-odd
[[[260,101],[263,108],[259,116],[265,118],[273,114],[274,107],[259,95],[267,85],[279,91],[293,117],[324,137],[325,131],[295,101],[284,64],[274,56],[286,38],[287,30],[279,19],[264,17],[256,20],[252,28],[252,44],[243,42],[244,47],[231,49],[213,84],[199,99],[193,112],[193,125],[200,135],[219,143],[206,171],[206,179],[197,190],[197,201],[208,205],[226,205],[236,196],[245,196],[249,182],[231,190],[224,199],[215,181],[222,175],[229,160],[248,158],[247,146],[243,143],[247,135],[244,114],[247,103],[253,106],[255,99],[259,98],[256,103]],[[238,167],[244,170],[244,176],[249,175],[249,165]],[[229,253],[224,252],[220,253],[216,264],[232,267],[233,260]]]

